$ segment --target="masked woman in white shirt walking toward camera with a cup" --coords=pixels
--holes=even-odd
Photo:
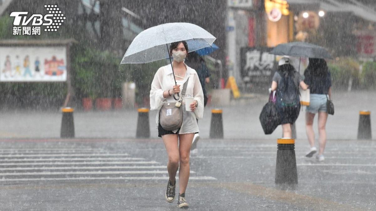
[[[185,190],[190,176],[190,149],[194,134],[199,132],[199,125],[196,119],[202,119],[204,97],[197,72],[184,63],[184,59],[188,54],[186,42],[171,43],[169,53],[173,57],[173,67],[171,65],[163,66],[156,72],[150,90],[150,110],[159,111],[165,102],[175,104],[177,100],[173,96],[177,93],[180,93],[181,96],[181,87],[188,81],[185,95],[193,96],[194,100],[190,104],[191,111],[183,109],[181,127],[173,131],[167,131],[159,123],[159,112],[156,116],[158,136],[162,137],[168,155],[167,171],[170,179],[167,183],[165,198],[169,203],[172,203],[175,199],[175,177],[180,166],[177,207],[187,208]],[[176,85],[175,80],[177,82]]]

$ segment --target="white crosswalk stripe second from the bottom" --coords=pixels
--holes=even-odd
[[[0,176],[21,176],[21,175],[97,175],[97,174],[167,174],[167,170],[160,171],[86,171],[86,172],[12,172],[12,173],[0,173]],[[179,171],[177,172],[179,173]],[[190,171],[190,173],[196,173]]]

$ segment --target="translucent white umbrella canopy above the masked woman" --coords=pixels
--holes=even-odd
[[[122,64],[148,63],[170,57],[172,42],[186,41],[189,52],[211,47],[215,37],[191,23],[166,23],[139,33],[124,54]]]

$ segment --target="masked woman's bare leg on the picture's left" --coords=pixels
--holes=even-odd
[[[177,169],[179,168],[179,148],[177,147],[177,134],[167,134],[162,136],[165,144],[168,162],[167,172],[172,184],[175,182]]]

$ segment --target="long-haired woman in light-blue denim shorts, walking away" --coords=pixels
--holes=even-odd
[[[304,81],[309,85],[309,106],[306,109],[306,133],[311,145],[306,157],[312,157],[317,152],[315,147],[315,132],[313,131],[313,119],[318,113],[319,151],[318,161],[324,161],[324,149],[326,144],[326,120],[328,117],[326,102],[331,99],[331,74],[324,59],[309,58],[309,64],[304,71]],[[328,96],[327,96],[328,95]]]

